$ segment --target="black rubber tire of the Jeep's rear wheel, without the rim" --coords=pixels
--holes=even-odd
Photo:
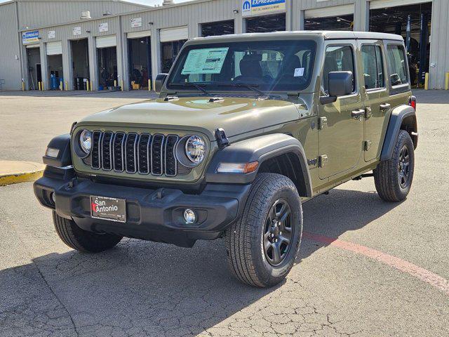
[[[409,176],[405,186],[399,183],[399,161],[401,150],[406,147],[409,155]],[[377,194],[385,201],[402,201],[406,199],[413,181],[415,171],[415,152],[413,141],[407,131],[401,130],[394,145],[393,155],[386,161],[377,164],[373,171]]]

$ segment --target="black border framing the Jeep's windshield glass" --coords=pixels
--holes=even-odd
[[[198,41],[195,41],[194,43],[189,43],[187,42],[187,44],[185,44],[185,46],[182,47],[180,53],[177,55],[177,58],[175,60],[175,62],[173,63],[173,66],[170,69],[170,72],[168,73],[167,79],[164,83],[164,88],[166,89],[166,91],[170,91],[173,92],[175,91],[176,93],[191,93],[192,89],[189,90],[189,88],[187,86],[184,86],[183,84],[180,84],[179,82],[173,82],[173,78],[175,77],[175,75],[177,74],[177,72],[181,72],[182,71],[182,67],[184,65],[185,60],[187,59],[187,55],[189,53],[189,51],[191,51],[192,49],[202,49],[202,48],[220,48],[220,47],[227,47],[229,46],[229,48],[232,48],[232,44],[253,44],[253,43],[262,43],[262,44],[288,44],[288,43],[295,43],[295,44],[300,44],[300,42],[305,41],[307,42],[307,44],[309,44],[309,46],[311,47],[311,60],[310,60],[310,65],[309,65],[309,77],[307,77],[307,81],[302,84],[301,86],[298,86],[297,88],[276,88],[276,86],[274,86],[275,90],[273,90],[273,87],[271,88],[260,88],[257,84],[255,85],[254,83],[245,83],[245,82],[235,82],[235,83],[242,83],[243,85],[241,86],[232,86],[232,84],[234,83],[233,81],[227,81],[227,82],[216,82],[217,84],[214,85],[212,84],[212,86],[208,86],[207,81],[198,81],[198,82],[186,82],[186,83],[191,83],[191,84],[197,84],[200,85],[202,88],[205,88],[206,91],[210,92],[210,93],[250,93],[252,95],[255,94],[254,90],[251,90],[248,87],[248,84],[250,86],[254,86],[255,88],[259,89],[260,91],[263,91],[264,93],[266,93],[267,95],[270,95],[271,93],[274,94],[279,94],[279,93],[288,93],[288,92],[302,92],[305,91],[307,88],[309,88],[309,86],[312,83],[312,79],[314,77],[314,73],[315,73],[315,67],[317,64],[319,64],[319,62],[317,62],[317,58],[319,57],[319,44],[317,43],[316,39],[314,39],[313,37],[301,37],[300,39],[292,37],[292,38],[283,38],[283,39],[279,39],[276,41],[273,41],[273,39],[251,39],[251,40],[243,40],[243,39],[238,39],[238,40],[225,40],[225,41],[201,41],[201,43],[199,43]],[[262,50],[262,48],[260,48]],[[267,50],[269,50],[269,48],[267,48]],[[226,62],[226,61],[225,61]],[[225,88],[226,86],[221,86],[220,85],[225,83],[225,84],[229,84],[229,88]],[[220,88],[217,88],[220,87]],[[194,88],[193,91],[197,91],[198,95],[204,95],[204,93],[201,93],[200,91],[196,90],[196,88]],[[258,94],[257,94],[258,95]]]

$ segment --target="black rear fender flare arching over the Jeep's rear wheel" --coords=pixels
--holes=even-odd
[[[410,105],[400,105],[391,112],[387,132],[385,133],[384,145],[380,154],[381,161],[388,160],[393,155],[394,144],[401,129],[410,133],[413,146],[416,149],[418,144],[416,112]]]

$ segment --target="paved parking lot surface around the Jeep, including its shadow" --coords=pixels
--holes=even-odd
[[[415,94],[406,201],[365,178],[307,202],[298,263],[272,289],[236,281],[221,239],[72,251],[32,183],[0,187],[0,336],[449,336],[449,94]],[[3,93],[0,160],[41,161],[72,121],[147,97]]]

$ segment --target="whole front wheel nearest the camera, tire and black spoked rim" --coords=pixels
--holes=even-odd
[[[293,267],[301,237],[302,207],[295,184],[286,176],[261,173],[241,218],[226,232],[229,268],[250,286],[274,286]]]

